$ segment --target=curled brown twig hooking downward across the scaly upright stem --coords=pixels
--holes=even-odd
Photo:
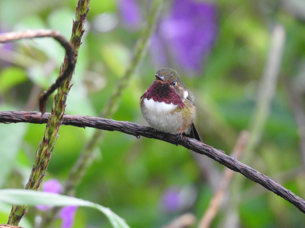
[[[39,96],[39,109],[41,114],[45,113],[46,102],[48,97],[63,84],[63,81],[66,80],[74,71],[76,58],[74,55],[74,47],[72,44],[59,32],[56,30],[50,29],[28,29],[20,32],[10,32],[0,34],[0,43],[8,43],[21,39],[32,39],[37,37],[53,37],[57,40],[63,48],[66,50],[67,66],[64,71],[61,72],[59,77],[56,79],[55,83],[48,88],[47,91],[44,91]]]

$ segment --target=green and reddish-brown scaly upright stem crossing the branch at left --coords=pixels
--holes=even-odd
[[[76,17],[75,21],[73,22],[72,36],[70,39],[70,42],[75,48],[75,59],[77,59],[78,50],[81,45],[81,37],[84,33],[84,23],[89,10],[89,2],[90,0],[79,0],[77,3]],[[64,71],[66,67],[67,59],[65,58],[61,66],[60,73]],[[71,74],[69,78],[64,81],[63,85],[57,90],[57,94],[55,95],[52,104],[51,115],[45,129],[45,134],[36,151],[33,169],[30,174],[29,181],[25,186],[26,189],[37,190],[43,177],[45,176],[45,171],[50,160],[51,152],[58,138],[58,131],[62,123],[63,113],[66,107],[66,98],[71,88],[70,81],[72,75],[73,74]],[[8,224],[17,226],[20,219],[27,212],[27,208],[27,206],[13,205],[12,211],[9,215]]]

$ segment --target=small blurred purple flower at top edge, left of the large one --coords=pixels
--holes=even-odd
[[[141,13],[135,0],[120,0],[119,4],[124,23],[136,26],[140,22]]]

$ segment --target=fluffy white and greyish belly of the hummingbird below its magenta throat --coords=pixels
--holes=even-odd
[[[173,113],[178,105],[156,102],[153,99],[147,100],[147,98],[143,99],[143,103],[145,108],[142,109],[142,113],[150,126],[162,132],[179,133],[175,124],[177,116]]]

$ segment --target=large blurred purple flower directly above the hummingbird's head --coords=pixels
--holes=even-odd
[[[197,71],[209,54],[216,34],[215,5],[195,0],[175,0],[170,14],[160,21],[156,37],[152,40],[152,54],[159,50],[154,59],[161,58],[163,62],[158,64],[164,66],[167,65],[164,62],[167,50],[175,65],[187,71]]]

